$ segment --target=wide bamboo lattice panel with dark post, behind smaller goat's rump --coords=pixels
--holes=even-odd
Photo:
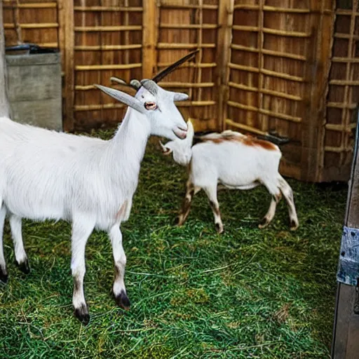
[[[325,91],[316,87],[320,98],[312,91],[326,83],[331,10],[330,0],[234,2],[226,127],[289,137],[283,172],[297,178],[317,175],[317,168],[303,170],[320,150],[319,116],[312,112],[323,106]]]

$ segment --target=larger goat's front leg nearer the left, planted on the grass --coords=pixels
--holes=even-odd
[[[75,316],[85,325],[90,320],[85,294],[83,293],[83,277],[86,273],[85,249],[88,237],[92,233],[94,226],[95,224],[85,219],[76,220],[76,222],[72,223],[71,270],[74,278],[72,304],[74,304]]]

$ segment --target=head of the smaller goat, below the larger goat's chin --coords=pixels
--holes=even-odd
[[[163,154],[168,156],[173,153],[173,159],[179,165],[189,165],[192,157],[192,142],[194,141],[194,126],[191,120],[187,121],[187,136],[184,140],[173,140],[161,144]]]

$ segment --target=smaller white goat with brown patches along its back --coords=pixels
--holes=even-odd
[[[278,172],[282,154],[275,144],[226,130],[223,133],[202,136],[201,142],[192,147],[194,128],[191,121],[187,122],[187,127],[185,140],[176,139],[165,145],[160,142],[163,154],[172,153],[175,162],[189,166],[189,179],[182,210],[179,213],[179,225],[184,224],[189,215],[193,196],[204,189],[215,216],[217,231],[222,233],[217,184],[229,189],[252,189],[263,184],[271,194],[272,200],[259,228],[269,225],[283,194],[289,210],[290,229],[297,229],[299,222],[293,192]]]

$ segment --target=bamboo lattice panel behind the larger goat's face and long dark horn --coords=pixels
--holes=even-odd
[[[192,118],[196,130],[215,130],[218,123],[216,88],[218,0],[158,1],[156,72],[188,51],[200,52],[159,83],[164,88],[188,93],[179,102],[184,118]]]

